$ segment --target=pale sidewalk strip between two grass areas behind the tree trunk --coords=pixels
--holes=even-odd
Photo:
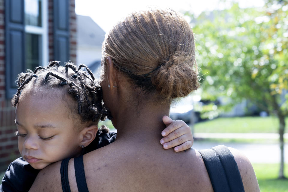
[[[194,138],[279,139],[278,133],[194,133]],[[288,133],[284,134],[288,139]]]

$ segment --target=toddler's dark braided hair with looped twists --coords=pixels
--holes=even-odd
[[[35,81],[33,82],[32,79]],[[25,73],[20,73],[18,90],[11,100],[14,107],[19,101],[22,90],[27,87],[29,82],[48,88],[66,88],[67,93],[77,103],[77,111],[82,122],[98,122],[99,120],[104,121],[106,117],[112,118],[102,103],[99,81],[95,80],[91,70],[84,64],[79,65],[77,69],[70,62],[63,67],[59,65],[59,61],[51,61],[47,67],[39,66],[35,68],[34,72],[27,70]]]

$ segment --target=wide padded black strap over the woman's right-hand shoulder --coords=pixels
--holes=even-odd
[[[237,163],[226,146],[200,150],[215,192],[244,192]]]

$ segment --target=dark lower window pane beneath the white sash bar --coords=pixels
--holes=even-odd
[[[26,69],[34,70],[42,65],[41,35],[26,33]]]

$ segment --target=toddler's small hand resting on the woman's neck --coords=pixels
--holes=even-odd
[[[192,147],[193,135],[190,127],[184,121],[173,121],[168,116],[163,116],[162,120],[167,126],[161,133],[165,137],[160,140],[164,149],[177,146],[174,148],[174,151],[180,152]]]

